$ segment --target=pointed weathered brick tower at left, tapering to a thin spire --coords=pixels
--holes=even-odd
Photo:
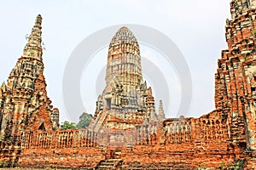
[[[50,130],[59,126],[59,111],[47,97],[42,59],[42,17],[39,14],[32,33],[9,74],[7,84],[0,88],[0,141],[18,144],[18,136],[26,130]]]

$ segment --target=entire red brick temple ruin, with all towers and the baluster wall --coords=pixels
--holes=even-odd
[[[136,38],[110,42],[106,88],[87,129],[58,129],[47,98],[38,15],[24,54],[0,88],[0,166],[96,169],[256,168],[256,2],[232,0],[228,49],[215,74],[216,109],[165,119],[143,82]]]

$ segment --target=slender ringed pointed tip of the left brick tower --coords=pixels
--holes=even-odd
[[[27,58],[42,60],[43,49],[42,49],[42,16],[38,14],[35,25],[32,28],[32,33],[28,38],[28,42],[24,48],[23,56]]]

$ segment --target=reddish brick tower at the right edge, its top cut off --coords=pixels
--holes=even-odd
[[[256,1],[232,0],[230,7],[229,49],[218,59],[215,105],[228,117],[233,144],[256,150]]]

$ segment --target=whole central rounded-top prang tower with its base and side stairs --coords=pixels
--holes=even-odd
[[[137,39],[126,27],[120,28],[109,44],[105,80],[106,88],[96,101],[90,124],[93,131],[102,127],[123,130],[165,119],[164,114],[155,113],[152,89],[143,82]]]

